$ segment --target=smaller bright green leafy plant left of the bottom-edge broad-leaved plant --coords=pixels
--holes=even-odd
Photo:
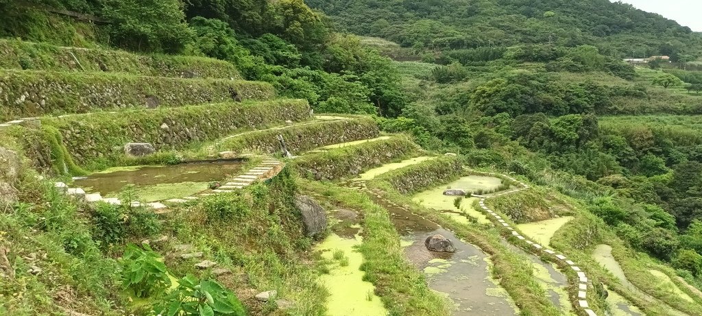
[[[133,291],[137,297],[159,296],[171,287],[166,265],[159,260],[159,254],[144,245],[140,249],[135,244],[129,244],[122,263],[122,287]]]

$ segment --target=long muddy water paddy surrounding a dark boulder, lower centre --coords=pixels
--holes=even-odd
[[[491,263],[477,247],[459,239],[453,232],[390,204],[378,197],[373,201],[390,211],[392,222],[402,236],[405,254],[428,276],[429,286],[453,301],[453,315],[517,315],[517,308],[507,292],[491,277]],[[424,241],[432,235],[443,235],[453,241],[456,252],[428,251]]]

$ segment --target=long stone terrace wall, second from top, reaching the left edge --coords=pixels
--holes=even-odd
[[[176,79],[107,73],[0,71],[0,119],[128,107],[179,107],[268,100],[272,85],[228,79]]]

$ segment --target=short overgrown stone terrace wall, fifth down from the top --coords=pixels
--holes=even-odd
[[[358,176],[364,170],[382,166],[416,153],[418,146],[409,138],[396,136],[387,140],[341,147],[326,152],[306,154],[293,161],[293,168],[316,180]]]

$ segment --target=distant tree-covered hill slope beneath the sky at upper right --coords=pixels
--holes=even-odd
[[[670,55],[675,61],[689,61],[702,53],[702,35],[689,27],[609,0],[307,0],[307,4],[348,32],[418,50],[587,44],[618,58]]]

